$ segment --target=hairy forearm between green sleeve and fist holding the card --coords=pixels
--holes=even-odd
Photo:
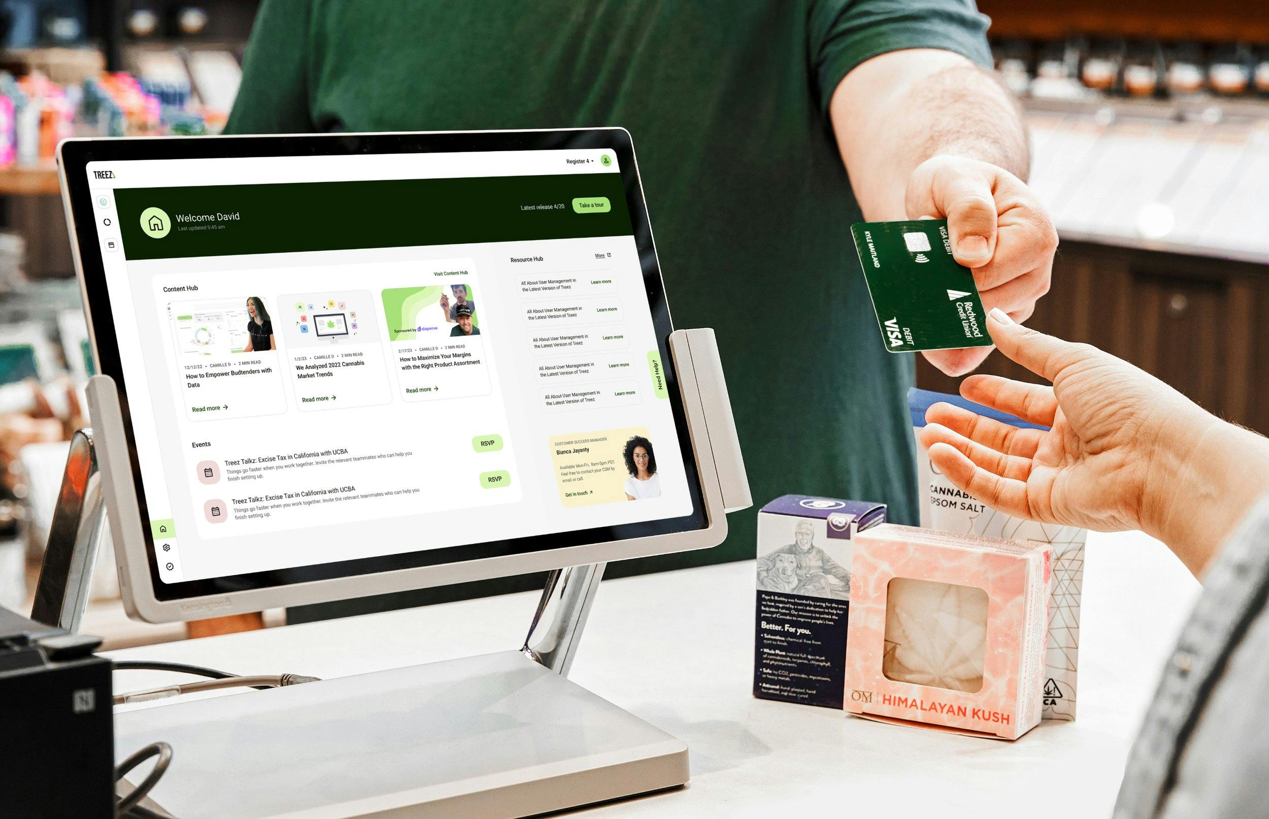
[[[937,49],[874,57],[838,86],[830,115],[855,198],[869,221],[904,219],[905,189],[934,156],[990,162],[1027,179],[1016,101],[964,57]]]

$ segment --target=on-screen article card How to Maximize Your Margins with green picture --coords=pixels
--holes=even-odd
[[[491,392],[471,280],[383,290],[383,318],[406,401]]]

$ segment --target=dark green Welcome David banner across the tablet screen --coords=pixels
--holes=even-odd
[[[121,188],[129,260],[629,236],[621,174]]]

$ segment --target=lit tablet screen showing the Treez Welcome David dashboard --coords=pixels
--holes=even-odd
[[[618,152],[85,170],[160,596],[703,525]]]

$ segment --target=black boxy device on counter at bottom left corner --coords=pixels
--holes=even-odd
[[[110,661],[0,606],[0,814],[114,816]]]

